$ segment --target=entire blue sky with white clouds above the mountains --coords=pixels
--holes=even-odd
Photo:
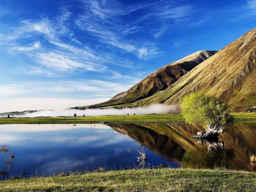
[[[256,0],[1,0],[0,112],[106,100],[255,24]]]

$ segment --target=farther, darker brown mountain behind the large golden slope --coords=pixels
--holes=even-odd
[[[145,79],[134,85],[128,91],[112,97],[109,101],[96,105],[77,107],[79,109],[88,107],[106,107],[113,105],[124,105],[133,103],[143,98],[163,91],[178,79],[188,73],[192,68],[214,55],[217,51],[197,51],[181,60],[167,64],[159,70],[151,73]]]

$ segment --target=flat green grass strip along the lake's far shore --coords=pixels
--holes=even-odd
[[[231,113],[235,123],[256,123],[256,113]],[[108,115],[96,117],[37,117],[37,118],[0,118],[0,124],[91,124],[108,121],[109,123],[183,123],[181,114],[168,115]]]

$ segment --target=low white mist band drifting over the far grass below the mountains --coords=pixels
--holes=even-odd
[[[131,107],[123,109],[63,109],[63,110],[42,110],[22,115],[11,115],[11,117],[58,117],[58,116],[100,116],[100,115],[148,115],[148,114],[177,114],[180,113],[178,105],[155,104],[147,107]]]

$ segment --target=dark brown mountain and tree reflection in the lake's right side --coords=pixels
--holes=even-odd
[[[256,153],[256,124],[234,124],[218,141],[198,142],[192,136],[202,127],[188,124],[111,125],[167,160],[183,167],[255,170],[249,155]]]

